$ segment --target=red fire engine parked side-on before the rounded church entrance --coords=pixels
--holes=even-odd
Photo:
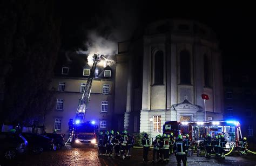
[[[207,134],[211,134],[212,137],[223,134],[227,141],[226,149],[237,147],[242,138],[238,121],[167,121],[164,123],[163,133],[173,133],[174,136],[189,134],[190,139],[198,144],[204,141]]]

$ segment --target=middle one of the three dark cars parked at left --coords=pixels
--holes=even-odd
[[[53,139],[49,137],[33,133],[22,133],[22,136],[28,141],[28,148],[33,154],[42,153],[44,150],[55,150]]]

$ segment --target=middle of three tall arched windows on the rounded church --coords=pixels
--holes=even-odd
[[[180,84],[191,84],[190,53],[180,52]]]

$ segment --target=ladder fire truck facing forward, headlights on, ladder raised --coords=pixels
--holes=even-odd
[[[91,87],[92,87],[92,81],[93,76],[95,74],[95,69],[97,63],[100,61],[100,57],[98,54],[94,54],[92,56],[93,65],[91,68],[91,72],[89,77],[87,78],[87,82],[85,85],[84,92],[79,99],[78,107],[75,115],[74,121],[69,122],[69,128],[70,128],[70,138],[71,146],[78,146],[82,144],[96,144],[96,132],[98,131],[98,126],[95,125],[95,121],[86,121],[85,115],[86,110],[89,105],[89,99],[91,94]]]

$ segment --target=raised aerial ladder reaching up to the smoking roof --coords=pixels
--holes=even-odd
[[[68,143],[69,141],[70,142],[72,141],[73,136],[74,136],[74,132],[76,132],[75,131],[76,130],[76,125],[78,125],[79,123],[84,123],[85,113],[86,113],[86,110],[88,108],[90,94],[91,94],[93,76],[95,74],[95,69],[96,69],[97,63],[99,63],[99,61],[101,60],[100,57],[105,58],[103,55],[100,56],[99,54],[94,54],[92,56],[93,65],[92,65],[92,68],[90,70],[89,77],[87,78],[87,82],[85,84],[84,92],[83,92],[81,98],[79,99],[74,121],[69,122],[70,137],[65,142],[65,144]]]

